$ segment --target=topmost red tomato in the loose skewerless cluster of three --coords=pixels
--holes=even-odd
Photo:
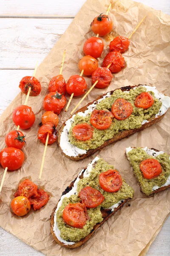
[[[23,180],[18,186],[20,195],[30,198],[31,196],[37,196],[37,185],[31,180]]]

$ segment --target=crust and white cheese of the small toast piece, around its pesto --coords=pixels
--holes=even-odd
[[[141,148],[142,148],[142,147],[141,147]],[[136,147],[129,147],[129,148],[126,148],[126,150],[125,150],[125,155],[126,155],[126,157],[127,157],[127,160],[129,161],[130,165],[131,165],[132,168],[133,168],[133,172],[134,172],[134,174],[135,174],[136,180],[138,181],[138,184],[139,184],[139,186],[140,186],[141,192],[142,192],[144,195],[146,195],[146,193],[144,192],[144,188],[143,188],[142,184],[140,183],[140,181],[139,181],[139,179],[138,179],[138,176],[136,175],[134,166],[133,166],[133,164],[131,163],[130,158],[129,158],[129,155],[128,155],[129,151],[132,150],[132,149],[136,149]],[[142,149],[144,149],[144,150],[146,151],[146,153],[147,153],[148,155],[152,156],[152,157],[156,157],[157,155],[164,153],[163,151],[159,151],[158,149],[155,149],[155,148],[147,148],[147,147],[145,147],[145,148],[142,148]],[[170,160],[170,157],[169,157],[169,160]],[[169,166],[170,166],[170,161],[169,161]],[[154,195],[155,193],[161,192],[161,191],[163,191],[163,190],[165,190],[165,189],[168,189],[168,188],[170,188],[170,176],[167,178],[166,183],[164,183],[162,186],[160,186],[160,187],[159,187],[159,186],[153,186],[152,192],[151,192],[149,195],[146,195],[146,196],[152,196],[152,195]]]

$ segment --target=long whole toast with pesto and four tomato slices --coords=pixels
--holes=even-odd
[[[122,87],[79,109],[59,130],[66,157],[80,160],[106,145],[158,122],[170,108],[170,97],[156,87]]]

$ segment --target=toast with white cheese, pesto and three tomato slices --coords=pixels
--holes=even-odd
[[[62,193],[51,215],[54,240],[68,248],[84,244],[133,198],[133,189],[113,166],[96,157]]]

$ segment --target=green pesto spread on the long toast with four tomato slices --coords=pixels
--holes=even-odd
[[[143,86],[131,89],[129,92],[122,92],[122,90],[118,89],[115,90],[110,97],[103,99],[101,102],[99,102],[99,104],[96,105],[97,110],[107,109],[111,111],[111,107],[116,99],[123,98],[132,104],[132,114],[124,120],[117,120],[113,118],[111,126],[108,129],[99,130],[94,128],[90,123],[91,113],[88,113],[87,116],[79,116],[79,114],[76,114],[76,116],[74,117],[74,122],[69,130],[68,137],[70,143],[84,150],[95,149],[101,146],[106,140],[112,139],[113,136],[120,131],[140,128],[142,126],[142,121],[150,119],[152,116],[155,116],[157,113],[159,113],[159,109],[162,105],[162,102],[159,99],[156,99],[154,93],[150,91],[149,93],[154,98],[154,104],[147,109],[137,108],[134,105],[135,99],[140,93],[145,91],[146,88]],[[72,135],[72,129],[75,125],[84,122],[88,123],[94,128],[93,137],[90,140],[86,141],[77,140]]]

